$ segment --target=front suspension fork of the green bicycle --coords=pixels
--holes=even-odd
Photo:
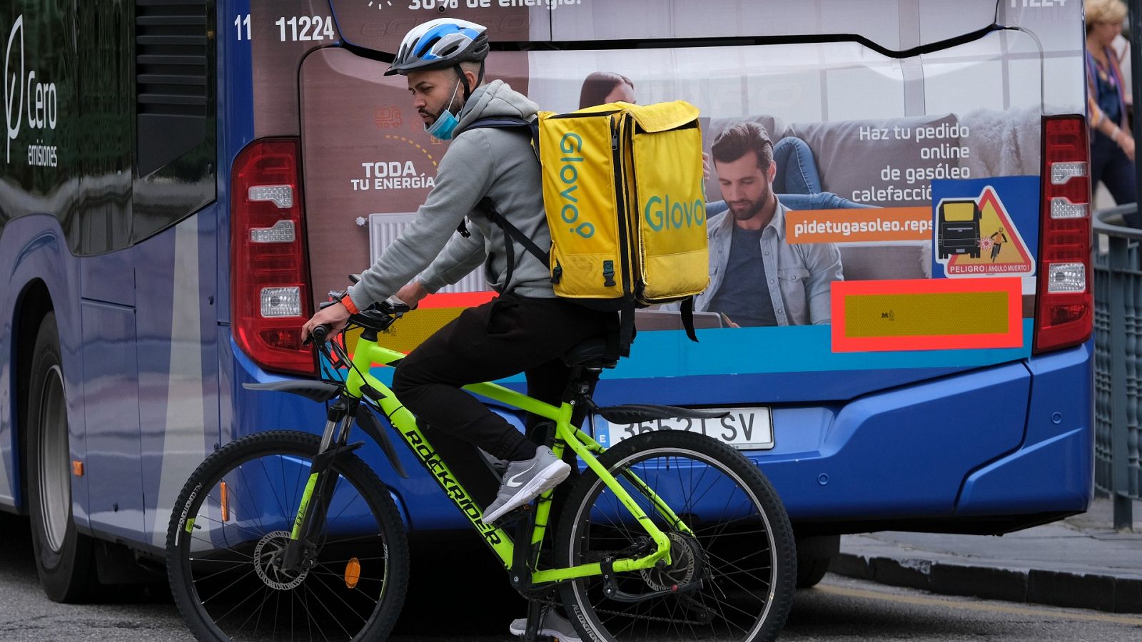
[[[346,446],[349,428],[361,400],[341,396],[332,406],[325,417],[325,430],[321,435],[317,455],[309,464],[309,479],[298,503],[293,517],[293,529],[290,540],[282,553],[282,569],[287,571],[304,570],[300,568],[307,543],[315,533],[325,528],[325,509],[337,482],[337,475],[330,474],[333,459],[344,452],[356,450],[361,444]]]

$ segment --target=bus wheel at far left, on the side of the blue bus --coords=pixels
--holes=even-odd
[[[72,520],[67,403],[55,313],[40,324],[27,398],[27,499],[32,547],[43,592],[80,602],[95,585],[91,539]]]

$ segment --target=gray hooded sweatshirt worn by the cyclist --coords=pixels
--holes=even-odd
[[[541,249],[552,247],[539,162],[530,138],[521,131],[465,129],[475,120],[491,117],[531,119],[539,106],[496,80],[473,91],[460,110],[460,122],[448,151],[440,161],[436,183],[416,218],[361,274],[361,282],[349,288],[359,308],[383,300],[419,274],[429,292],[456,283],[484,264],[488,283],[502,292],[507,272],[504,232],[473,208],[485,195],[496,201],[499,212]],[[471,236],[456,233],[468,217]],[[512,291],[525,297],[555,297],[550,270],[515,241],[515,268]],[[435,260],[434,260],[435,259]]]

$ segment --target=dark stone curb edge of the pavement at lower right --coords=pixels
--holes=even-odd
[[[944,595],[1142,613],[1142,579],[841,553],[829,570]]]

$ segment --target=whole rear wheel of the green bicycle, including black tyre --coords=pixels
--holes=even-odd
[[[737,450],[684,432],[625,440],[598,462],[670,540],[664,568],[563,583],[584,640],[771,641],[793,604],[796,548],[785,507]],[[662,508],[665,504],[669,508]],[[566,565],[643,556],[654,544],[616,493],[587,471],[560,517]]]

